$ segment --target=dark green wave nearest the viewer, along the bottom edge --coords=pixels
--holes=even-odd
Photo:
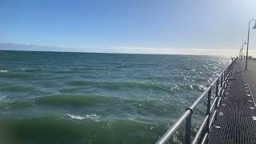
[[[146,144],[157,142],[158,138],[168,129],[166,123],[140,122],[131,119],[112,119],[100,122],[74,122],[60,117],[1,118],[1,120],[0,134],[6,136],[1,140],[4,140],[5,143],[21,144],[34,142],[38,142],[38,144],[84,142]],[[195,133],[195,130],[192,129],[192,134]],[[183,138],[183,133],[176,133],[174,143],[182,143]]]

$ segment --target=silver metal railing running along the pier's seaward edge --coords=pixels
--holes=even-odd
[[[165,134],[162,135],[162,138],[156,142],[156,144],[164,144],[170,140],[178,130],[182,126],[182,123],[186,121],[186,128],[185,128],[185,143],[198,143],[199,139],[201,143],[205,143],[208,139],[208,135],[210,133],[210,127],[213,125],[214,120],[216,119],[216,113],[218,106],[222,102],[222,98],[224,96],[224,90],[226,89],[227,83],[230,79],[230,76],[232,74],[232,70],[234,69],[234,63],[236,62],[238,58],[235,58],[234,61],[230,63],[230,66],[228,66],[225,70],[222,71],[221,74],[218,75],[216,79],[214,79],[214,82],[210,84],[204,90],[204,92],[198,97],[198,99],[192,104],[192,106],[186,108],[185,113],[182,114],[180,118],[178,118],[178,121],[174,123],[173,126],[170,127],[169,130],[166,131]],[[211,100],[211,94],[212,89],[215,86],[215,98],[212,102]],[[196,106],[198,106],[198,103],[202,101],[203,98],[207,95],[207,110],[206,110],[206,118],[203,120],[202,125],[198,129],[197,134],[194,136],[193,141],[191,142],[191,119],[193,110]],[[211,115],[212,114],[212,115]]]

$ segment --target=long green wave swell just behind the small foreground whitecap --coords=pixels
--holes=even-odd
[[[117,114],[142,114],[144,116],[161,116],[162,114],[172,114],[174,111],[179,111],[180,106],[174,103],[170,98],[162,99],[135,99],[135,98],[118,98],[101,95],[68,95],[56,94],[48,95],[41,98],[36,98],[37,105],[57,106],[65,108],[72,107],[94,107],[101,111],[102,114],[108,113],[104,109],[113,110]],[[176,112],[175,112],[176,113]],[[75,115],[74,115],[75,116]],[[84,116],[78,115],[80,118]],[[78,118],[79,119],[79,118]]]

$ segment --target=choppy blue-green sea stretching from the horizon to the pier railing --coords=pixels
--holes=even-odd
[[[230,59],[0,51],[0,142],[154,143]],[[205,102],[193,116],[194,130]],[[182,133],[175,135],[182,142]]]

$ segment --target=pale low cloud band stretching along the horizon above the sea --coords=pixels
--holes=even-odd
[[[94,49],[93,49],[93,48]],[[98,49],[95,49],[97,47]],[[169,54],[169,55],[204,55],[217,57],[236,57],[237,50],[232,49],[202,49],[202,48],[160,48],[142,46],[52,46],[21,44],[14,42],[0,42],[0,50],[18,51],[49,51],[49,52],[76,52],[96,54]],[[252,51],[251,51],[252,52]],[[254,51],[256,53],[256,51]]]

